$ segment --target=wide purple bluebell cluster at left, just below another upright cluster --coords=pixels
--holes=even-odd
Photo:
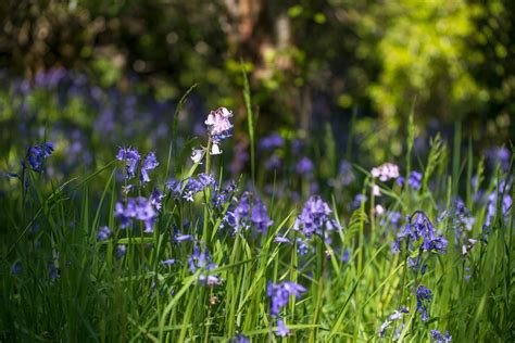
[[[145,232],[153,232],[153,224],[158,218],[158,209],[150,200],[143,196],[129,198],[127,203],[116,203],[114,215],[121,221],[121,228],[125,229],[133,224],[133,219],[143,221]]]

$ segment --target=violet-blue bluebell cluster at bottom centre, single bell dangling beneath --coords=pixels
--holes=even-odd
[[[266,294],[271,300],[271,315],[276,318],[279,316],[280,310],[288,304],[290,296],[294,295],[297,298],[301,297],[301,293],[304,293],[306,289],[301,284],[285,281],[281,283],[268,282]],[[282,319],[277,319],[278,330],[276,333],[280,336],[287,335],[290,330],[286,328]]]

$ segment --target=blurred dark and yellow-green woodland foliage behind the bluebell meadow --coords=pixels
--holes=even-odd
[[[329,122],[343,147],[355,112],[379,161],[403,153],[415,98],[420,136],[462,120],[481,144],[515,137],[514,18],[510,0],[7,0],[0,65],[26,79],[63,66],[122,91],[137,79],[163,101],[198,84],[201,107],[243,114],[243,60],[259,135]]]

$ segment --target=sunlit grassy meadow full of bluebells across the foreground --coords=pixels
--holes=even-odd
[[[404,161],[366,166],[330,135],[260,139],[248,88],[196,134],[187,97],[136,123],[130,97],[24,92],[49,118],[1,162],[0,341],[515,340],[512,148],[419,154],[412,113]],[[71,106],[100,114],[51,120]]]

